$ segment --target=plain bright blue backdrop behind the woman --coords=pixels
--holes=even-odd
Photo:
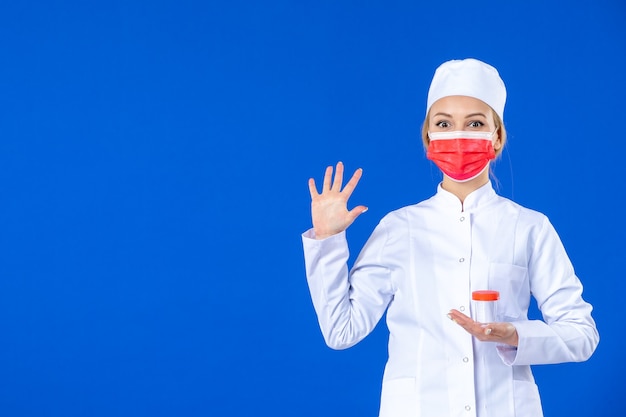
[[[356,255],[440,179],[443,61],[506,82],[499,192],[547,214],[601,334],[546,416],[623,415],[622,1],[3,1],[0,415],[376,416],[387,332],[323,342],[307,179],[364,168]]]

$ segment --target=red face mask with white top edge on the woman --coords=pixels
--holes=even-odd
[[[492,142],[494,133],[428,132],[430,143],[426,158],[457,182],[472,180],[496,157]]]

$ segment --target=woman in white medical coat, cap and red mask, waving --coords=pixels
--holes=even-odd
[[[309,180],[313,228],[302,236],[313,305],[328,346],[345,349],[385,311],[389,359],[381,417],[540,417],[530,365],[578,362],[599,336],[592,307],[543,214],[497,195],[489,163],[506,142],[506,89],[475,59],[435,72],[423,141],[443,172],[436,193],[386,215],[351,270],[345,231],[361,178],[343,165]],[[471,293],[500,294],[495,322],[472,320]],[[527,317],[534,297],[543,320]]]

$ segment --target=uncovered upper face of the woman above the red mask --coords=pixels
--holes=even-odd
[[[493,132],[496,129],[493,110],[483,101],[467,96],[448,96],[437,100],[430,108],[430,132],[475,131]],[[495,150],[502,146],[498,132],[493,136]]]

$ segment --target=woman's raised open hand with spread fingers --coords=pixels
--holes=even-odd
[[[326,168],[324,183],[321,194],[317,192],[315,180],[309,179],[309,191],[311,193],[311,217],[316,239],[325,239],[329,236],[343,232],[354,222],[360,214],[367,211],[365,206],[357,206],[348,210],[348,199],[354,188],[359,183],[363,170],[357,169],[346,186],[341,189],[343,182],[343,164],[337,163],[335,178],[333,179],[333,167]]]

